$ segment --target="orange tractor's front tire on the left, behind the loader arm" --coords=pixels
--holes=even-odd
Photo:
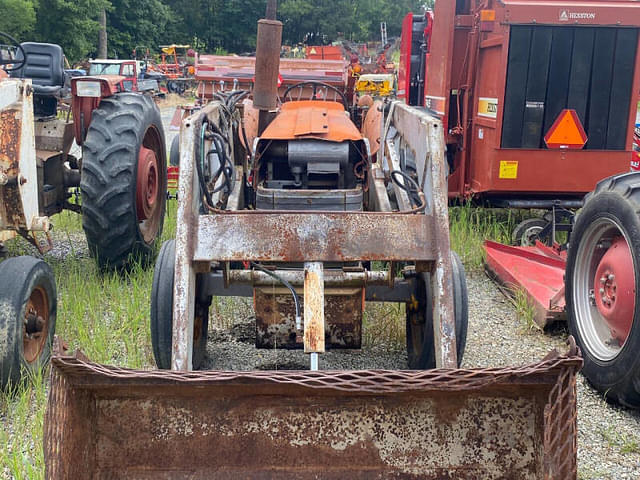
[[[162,370],[171,368],[175,258],[175,241],[164,242],[156,260],[151,286],[151,346],[156,365]],[[207,352],[210,304],[211,297],[202,301],[196,296],[192,353],[194,370],[200,368]]]

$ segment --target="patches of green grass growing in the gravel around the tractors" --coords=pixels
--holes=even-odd
[[[163,240],[175,234],[176,202],[168,203]],[[516,215],[499,216],[471,206],[450,210],[451,243],[468,270],[479,270],[485,238],[508,241]],[[77,255],[82,238],[80,216],[65,212],[52,218],[57,242],[69,246],[65,258],[46,255],[58,288],[56,331],[70,351],[81,349],[94,361],[132,368],[154,365],[149,331],[153,269],[135,266],[126,275],[101,274],[93,259]],[[24,240],[9,245],[12,255],[30,253]],[[233,316],[252,314],[251,299],[216,298],[212,324],[229,328]],[[233,313],[233,315],[232,315]],[[369,304],[364,316],[365,346],[404,348],[404,305]],[[0,395],[0,478],[41,479],[44,476],[42,432],[47,372],[20,388]],[[9,429],[11,429],[10,433]]]

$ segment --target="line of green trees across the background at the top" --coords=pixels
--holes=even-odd
[[[0,0],[0,31],[19,41],[57,43],[73,62],[95,57],[100,19],[106,13],[112,58],[129,58],[134,48],[188,43],[203,52],[251,52],[256,22],[266,0]],[[283,42],[293,45],[339,38],[380,39],[380,22],[389,38],[399,36],[407,12],[425,0],[280,0]]]

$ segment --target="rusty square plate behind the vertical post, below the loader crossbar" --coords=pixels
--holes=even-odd
[[[282,287],[256,288],[254,292],[256,347],[302,348],[302,342],[296,339],[291,293]],[[299,295],[304,307],[302,292]],[[362,288],[325,288],[325,345],[329,349],[362,347],[363,306]]]

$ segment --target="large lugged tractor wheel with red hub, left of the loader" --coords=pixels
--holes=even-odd
[[[148,262],[162,233],[167,192],[164,130],[149,96],[121,93],[93,111],[80,190],[82,226],[100,267]]]

